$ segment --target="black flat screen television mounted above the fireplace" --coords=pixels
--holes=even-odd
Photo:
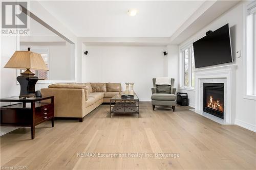
[[[196,68],[233,62],[228,23],[193,43]]]

